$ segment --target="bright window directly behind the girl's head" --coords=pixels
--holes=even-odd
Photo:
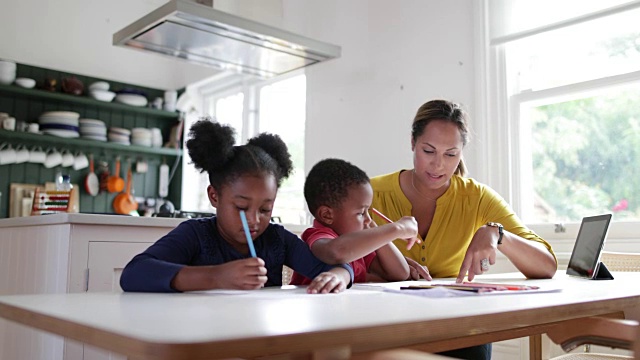
[[[202,113],[229,124],[236,130],[236,143],[244,144],[261,132],[278,134],[289,148],[294,171],[279,191],[272,215],[283,223],[306,223],[304,187],[304,136],[306,121],[306,77],[289,78],[262,83],[232,83],[222,88],[204,85],[201,91]],[[191,117],[188,128],[199,117]],[[183,162],[182,208],[211,212],[205,174],[189,164],[188,154]],[[197,186],[195,186],[197,184]]]

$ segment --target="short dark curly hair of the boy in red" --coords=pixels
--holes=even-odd
[[[322,205],[339,208],[353,185],[368,184],[369,177],[341,159],[324,159],[311,168],[304,183],[304,198],[311,214]]]

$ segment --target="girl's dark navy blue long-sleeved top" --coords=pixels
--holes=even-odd
[[[265,286],[282,285],[283,265],[310,279],[335,267],[316,258],[304,241],[278,224],[269,224],[253,243],[267,268]],[[219,265],[248,256],[222,238],[215,216],[186,220],[136,255],[124,268],[120,286],[124,291],[175,292],[171,281],[183,266]],[[337,266],[351,274],[350,287],[353,269],[348,264]]]

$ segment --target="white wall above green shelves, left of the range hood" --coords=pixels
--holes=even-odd
[[[113,33],[164,0],[20,0],[0,6],[0,58],[160,89],[216,74],[112,45]]]

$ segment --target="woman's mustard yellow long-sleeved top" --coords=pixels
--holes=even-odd
[[[411,202],[400,188],[401,171],[371,179],[372,207],[393,221],[412,216]],[[377,216],[374,221],[379,225],[384,223]],[[394,244],[405,256],[427,266],[434,278],[456,277],[473,235],[489,221],[501,223],[505,230],[527,240],[544,244],[555,258],[551,245],[524,226],[498,193],[474,179],[458,175],[451,177],[449,189],[438,198],[433,222],[427,238],[421,238],[422,244],[415,244],[410,250],[403,240],[397,239]]]

